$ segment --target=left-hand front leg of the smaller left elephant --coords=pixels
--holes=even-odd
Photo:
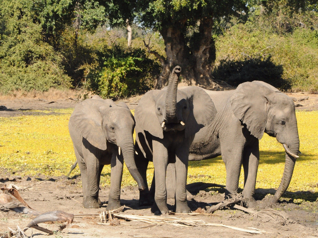
[[[90,152],[84,157],[86,158],[87,193],[83,198],[83,205],[85,208],[99,208],[100,161]]]

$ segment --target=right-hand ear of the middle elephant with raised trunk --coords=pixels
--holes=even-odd
[[[213,120],[217,110],[210,96],[202,88],[191,86],[178,90],[185,93],[190,100],[190,114],[184,132],[185,137],[189,137],[208,125]]]

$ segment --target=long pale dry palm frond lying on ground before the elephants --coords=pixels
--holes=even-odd
[[[123,207],[121,207],[121,210],[122,209]],[[139,216],[139,215],[128,215],[128,214],[124,215],[124,214],[113,213],[113,211],[106,211],[106,212],[100,213],[101,222],[106,223],[107,221],[110,221],[114,218],[121,218],[121,219],[125,219],[125,221],[138,221],[138,222],[148,223],[150,226],[147,226],[146,228],[158,226],[158,225],[166,225],[166,224],[177,226],[177,227],[218,226],[218,227],[225,227],[225,228],[231,228],[231,229],[235,229],[239,231],[244,231],[244,232],[248,232],[252,234],[264,233],[263,231],[255,231],[252,229],[243,229],[243,228],[237,228],[237,227],[227,226],[223,224],[208,223],[202,220],[196,220],[193,217],[178,218],[174,216],[162,217],[162,216]],[[199,214],[202,215],[202,213],[199,213]]]

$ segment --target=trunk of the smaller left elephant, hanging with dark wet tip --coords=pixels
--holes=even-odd
[[[140,191],[145,190],[145,184],[143,182],[142,176],[140,172],[138,171],[136,163],[135,163],[135,146],[134,146],[134,139],[132,134],[127,133],[127,135],[123,135],[123,132],[121,132],[121,135],[116,137],[121,138],[120,140],[116,140],[116,143],[117,143],[117,146],[121,148],[121,153],[122,153],[122,156],[124,157],[124,161],[128,168],[128,171],[137,182],[139,190]]]

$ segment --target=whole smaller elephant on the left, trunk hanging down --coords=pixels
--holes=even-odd
[[[145,188],[134,159],[135,121],[125,103],[116,105],[111,99],[103,100],[99,96],[86,99],[75,106],[68,126],[81,172],[85,208],[100,207],[98,190],[100,173],[105,164],[111,165],[107,210],[121,206],[124,159],[139,189]]]

